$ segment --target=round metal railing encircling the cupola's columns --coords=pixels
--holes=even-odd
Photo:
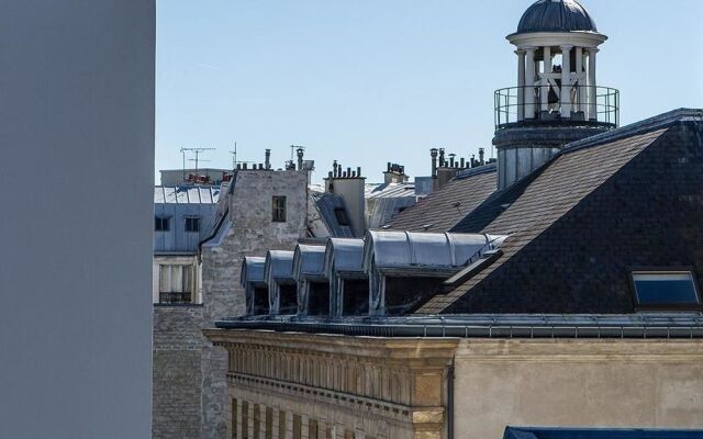
[[[620,126],[620,91],[573,86],[561,99],[557,86],[510,87],[495,91],[495,130],[545,122]],[[532,98],[532,99],[531,99]]]

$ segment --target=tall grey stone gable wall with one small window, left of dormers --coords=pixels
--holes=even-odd
[[[308,230],[308,172],[241,170],[226,194],[231,222],[219,245],[202,247],[203,328],[217,318],[246,309],[239,270],[245,256],[265,256],[269,249],[293,250]],[[287,221],[272,222],[272,196],[286,196]],[[225,381],[226,354],[205,345],[202,350],[203,438],[224,439],[230,409]]]

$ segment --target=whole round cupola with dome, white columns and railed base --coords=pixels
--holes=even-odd
[[[507,35],[517,87],[495,91],[499,189],[542,166],[565,144],[618,125],[620,92],[596,82],[607,36],[576,0],[538,0]]]

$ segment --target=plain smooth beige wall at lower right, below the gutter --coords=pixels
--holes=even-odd
[[[703,340],[462,340],[455,436],[506,426],[703,428]]]

